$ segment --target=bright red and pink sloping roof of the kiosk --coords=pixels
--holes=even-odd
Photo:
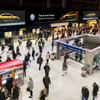
[[[0,63],[0,72],[4,72],[7,70],[17,69],[21,68],[23,65],[23,62],[20,60],[10,60],[7,62]]]

